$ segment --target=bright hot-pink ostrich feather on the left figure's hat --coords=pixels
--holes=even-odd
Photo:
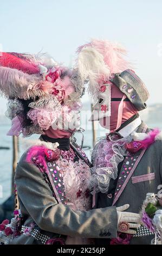
[[[7,53],[0,54],[0,66],[5,66],[11,69],[21,70],[28,74],[38,74],[40,72],[38,65],[34,60],[27,59],[21,53]]]

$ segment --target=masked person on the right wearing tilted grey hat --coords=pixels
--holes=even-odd
[[[129,69],[120,45],[92,40],[77,52],[80,77],[89,80],[89,92],[96,100],[90,121],[98,120],[107,129],[92,152],[93,207],[129,204],[130,212],[139,213],[146,193],[157,194],[162,176],[160,131],[149,129],[139,116],[147,107],[148,90]],[[149,244],[156,232],[146,221],[137,229],[134,225],[137,234],[128,229],[127,221],[121,221],[117,239],[96,243]]]

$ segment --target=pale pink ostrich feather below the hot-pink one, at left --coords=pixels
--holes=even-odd
[[[41,97],[45,94],[40,89],[41,82],[40,76],[0,66],[0,90],[6,97],[24,100]]]

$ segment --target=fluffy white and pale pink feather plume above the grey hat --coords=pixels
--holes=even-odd
[[[77,48],[76,66],[82,81],[89,80],[89,93],[94,98],[100,85],[112,78],[113,74],[130,68],[126,50],[120,44],[108,40],[93,39]]]

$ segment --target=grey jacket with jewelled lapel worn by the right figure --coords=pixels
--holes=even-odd
[[[144,127],[146,127],[146,125],[142,123],[137,132],[142,132]],[[148,131],[150,131],[150,129],[147,128],[146,133]],[[134,159],[136,160],[134,161]],[[132,164],[134,164],[134,167],[129,171],[128,166],[132,166]],[[128,174],[125,168],[127,168]],[[124,179],[123,183],[121,183],[122,179]],[[140,153],[125,156],[125,160],[119,172],[118,181],[116,182],[116,189],[112,195],[114,197],[113,202],[112,199],[109,198],[108,193],[98,193],[95,197],[95,208],[104,208],[112,205],[117,207],[129,204],[130,206],[127,211],[139,213],[141,205],[146,198],[146,194],[149,192],[158,193],[158,186],[161,184],[162,141],[159,139],[147,150],[140,150]],[[153,238],[153,235],[133,237],[131,244],[150,244]],[[107,239],[96,240],[96,243],[99,244],[107,244],[107,242]]]

